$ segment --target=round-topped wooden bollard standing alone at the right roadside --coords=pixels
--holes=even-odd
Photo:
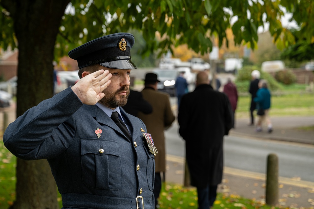
[[[267,157],[266,204],[275,206],[278,203],[278,157],[269,154]]]

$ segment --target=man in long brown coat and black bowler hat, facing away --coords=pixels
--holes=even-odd
[[[157,83],[160,82],[157,79],[157,74],[147,73],[144,81],[143,99],[152,105],[153,112],[150,114],[138,112],[138,118],[145,123],[147,132],[152,135],[155,147],[158,150],[158,154],[155,156],[155,185],[153,190],[156,208],[161,190],[160,172],[165,172],[166,170],[164,130],[171,126],[175,116],[171,110],[169,95],[157,91]]]

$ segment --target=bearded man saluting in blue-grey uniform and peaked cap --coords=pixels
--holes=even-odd
[[[117,33],[71,50],[81,79],[4,133],[17,157],[48,160],[63,208],[154,208],[154,144],[143,136],[145,124],[121,108],[136,68],[133,44],[132,34]]]

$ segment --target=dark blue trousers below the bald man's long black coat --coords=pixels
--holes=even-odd
[[[209,209],[214,204],[217,196],[217,185],[207,185],[205,188],[197,188],[198,209]]]

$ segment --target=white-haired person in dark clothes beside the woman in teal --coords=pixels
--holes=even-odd
[[[250,115],[251,115],[251,121],[248,124],[249,126],[253,126],[254,125],[254,110],[256,109],[256,102],[254,102],[254,98],[256,97],[256,92],[259,89],[258,88],[258,83],[259,83],[259,79],[261,77],[261,73],[258,70],[254,70],[251,73],[252,76],[252,81],[250,82],[250,88],[249,88],[249,92],[251,94],[251,105],[250,105]]]

